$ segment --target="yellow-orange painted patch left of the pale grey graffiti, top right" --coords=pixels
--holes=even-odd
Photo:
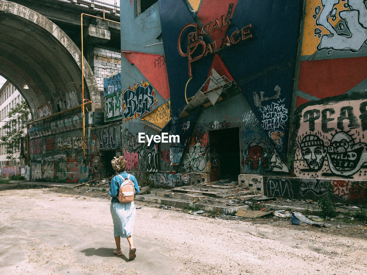
[[[315,14],[315,8],[317,6],[321,7],[321,13],[323,9],[323,6],[321,5],[321,0],[307,1],[301,55],[312,55],[316,52],[316,47],[317,45],[319,45],[321,39],[318,36],[315,36],[316,28],[319,28],[322,31],[321,35],[330,34],[323,26],[316,26],[316,19],[317,17],[319,17],[320,13],[319,15],[317,15],[316,19],[313,18],[312,15]]]

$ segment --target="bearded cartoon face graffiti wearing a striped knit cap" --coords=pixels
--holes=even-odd
[[[315,171],[320,170],[327,153],[327,148],[324,146],[323,140],[315,135],[307,135],[302,139],[300,146],[302,157],[309,168]]]

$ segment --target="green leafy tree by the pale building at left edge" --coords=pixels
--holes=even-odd
[[[26,140],[25,129],[30,119],[28,104],[24,100],[15,104],[10,109],[8,118],[9,120],[3,126],[5,133],[0,139],[0,144],[5,145],[6,158],[15,161],[17,159],[15,153],[21,151],[21,146]]]

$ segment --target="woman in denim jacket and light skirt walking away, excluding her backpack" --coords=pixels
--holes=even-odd
[[[116,242],[116,250],[113,254],[116,254],[117,256],[122,255],[120,246],[121,236],[123,238],[127,238],[130,245],[129,260],[133,260],[136,257],[136,249],[132,239],[132,228],[134,227],[135,220],[135,205],[133,201],[119,202],[116,196],[118,195],[123,179],[126,177],[134,183],[136,195],[139,194],[140,190],[137,179],[125,171],[126,160],[123,157],[113,157],[111,164],[116,172],[116,176],[112,178],[110,185],[110,196],[112,197],[110,210],[113,220],[113,235],[115,236]]]

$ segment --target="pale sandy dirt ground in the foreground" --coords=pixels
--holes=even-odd
[[[0,274],[367,274],[367,229],[224,220],[135,202],[115,256],[107,190],[0,186]],[[181,212],[180,212],[181,211]]]

